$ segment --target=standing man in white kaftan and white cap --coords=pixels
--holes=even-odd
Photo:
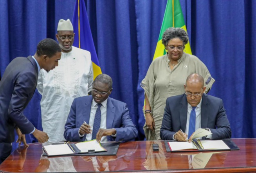
[[[54,71],[41,70],[37,84],[42,95],[42,127],[49,136],[44,145],[65,141],[64,126],[71,104],[74,98],[88,95],[93,82],[90,52],[72,46],[74,31],[70,20],[59,20],[57,31],[61,61]]]

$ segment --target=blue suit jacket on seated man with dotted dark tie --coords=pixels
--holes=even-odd
[[[78,131],[83,122],[89,122],[92,96],[75,98],[65,125],[64,137],[67,141],[84,141]],[[116,137],[108,136],[108,141],[129,141],[137,137],[138,130],[129,116],[126,103],[108,97],[106,112],[106,128],[115,128]]]

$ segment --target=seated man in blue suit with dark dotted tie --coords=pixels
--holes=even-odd
[[[138,131],[129,116],[126,103],[108,97],[112,78],[98,75],[92,85],[92,96],[75,98],[65,125],[67,141],[129,141]]]

